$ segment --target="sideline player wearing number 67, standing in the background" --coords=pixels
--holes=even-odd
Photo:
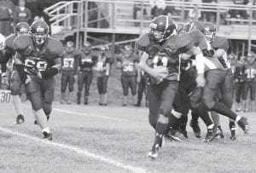
[[[61,104],[65,102],[65,91],[68,84],[68,93],[67,93],[67,104],[71,104],[70,95],[73,92],[73,85],[78,71],[79,58],[81,54],[79,51],[74,49],[74,43],[68,41],[66,43],[64,56],[61,61]]]

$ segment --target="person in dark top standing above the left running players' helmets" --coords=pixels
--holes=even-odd
[[[26,0],[19,0],[19,6],[14,10],[14,23],[15,25],[20,21],[31,23],[32,14],[30,9],[26,8]]]

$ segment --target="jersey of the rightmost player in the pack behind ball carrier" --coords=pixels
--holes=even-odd
[[[218,37],[216,36],[214,40],[211,43],[212,49],[218,50],[218,49],[224,49],[227,51],[229,49],[229,41],[225,37]],[[224,69],[228,70],[230,69],[231,65],[228,61],[228,56],[225,53],[221,57],[218,57],[218,61],[224,66]]]

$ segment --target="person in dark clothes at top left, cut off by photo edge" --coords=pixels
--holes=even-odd
[[[9,36],[11,29],[11,15],[15,9],[14,3],[9,0],[0,0],[0,33]]]

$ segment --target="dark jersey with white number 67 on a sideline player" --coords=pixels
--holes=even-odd
[[[61,61],[61,70],[64,72],[77,72],[80,57],[81,53],[77,50],[73,50],[72,52],[65,51]]]

